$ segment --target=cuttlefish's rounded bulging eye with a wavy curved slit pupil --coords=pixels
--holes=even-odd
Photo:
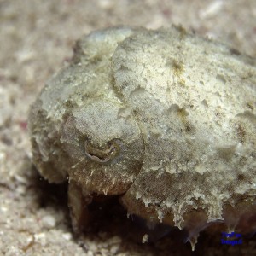
[[[70,179],[112,195],[131,186],[143,163],[143,139],[128,108],[95,101],[73,109],[62,130],[61,143],[72,163]]]

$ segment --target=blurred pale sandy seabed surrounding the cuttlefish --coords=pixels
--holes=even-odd
[[[255,0],[0,0],[0,255],[256,255],[255,236],[222,245],[214,229],[201,233],[194,253],[177,230],[142,244],[132,228],[120,231],[130,224],[119,210],[75,239],[67,187],[45,183],[32,166],[29,106],[75,41],[108,26],[172,24],[256,57]]]

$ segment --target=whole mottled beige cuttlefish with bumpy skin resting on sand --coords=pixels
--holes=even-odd
[[[256,230],[256,61],[181,27],[81,38],[29,117],[33,161],[69,179],[74,229],[94,195],[189,230]]]

